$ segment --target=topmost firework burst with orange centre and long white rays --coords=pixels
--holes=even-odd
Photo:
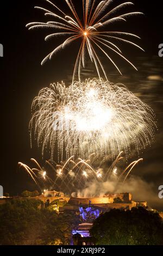
[[[65,0],[70,8],[72,17],[70,15],[65,14],[60,8],[57,7],[56,4],[51,1],[46,0],[49,5],[53,6],[54,11],[47,10],[42,7],[35,7],[36,9],[43,10],[45,12],[45,16],[54,19],[53,21],[48,22],[32,22],[28,23],[27,27],[29,29],[33,28],[49,28],[54,29],[52,34],[46,36],[45,40],[49,40],[56,36],[68,36],[66,40],[62,42],[59,46],[54,48],[54,50],[42,60],[42,64],[45,63],[48,59],[51,59],[55,53],[69,45],[71,42],[78,40],[79,41],[79,52],[76,59],[76,64],[74,66],[73,72],[73,81],[74,76],[78,74],[80,80],[80,72],[82,67],[85,68],[85,53],[88,52],[92,63],[95,64],[98,76],[101,77],[100,73],[104,74],[106,77],[106,73],[104,71],[103,64],[99,58],[97,50],[101,51],[104,56],[106,56],[112,64],[115,65],[116,69],[120,72],[120,69],[114,62],[114,60],[110,57],[108,52],[112,51],[118,56],[122,57],[126,60],[130,65],[134,68],[135,66],[123,56],[120,48],[118,48],[116,41],[127,42],[131,45],[139,47],[133,41],[125,39],[123,36],[131,36],[133,38],[139,38],[139,36],[127,32],[112,32],[111,25],[114,22],[126,21],[126,18],[132,15],[142,14],[139,12],[129,12],[126,11],[126,7],[130,7],[133,5],[131,2],[125,2],[117,5],[116,7],[112,7],[112,2],[110,0],[83,0],[83,17],[82,19],[79,17],[72,0]],[[80,3],[78,3],[80,4]],[[82,7],[82,5],[81,5]],[[109,30],[109,31],[108,31]],[[135,68],[136,69],[136,68]],[[107,77],[106,77],[107,80]]]

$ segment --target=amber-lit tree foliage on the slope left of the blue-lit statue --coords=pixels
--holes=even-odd
[[[0,245],[69,245],[77,227],[75,214],[39,209],[35,199],[14,199],[0,205]]]

